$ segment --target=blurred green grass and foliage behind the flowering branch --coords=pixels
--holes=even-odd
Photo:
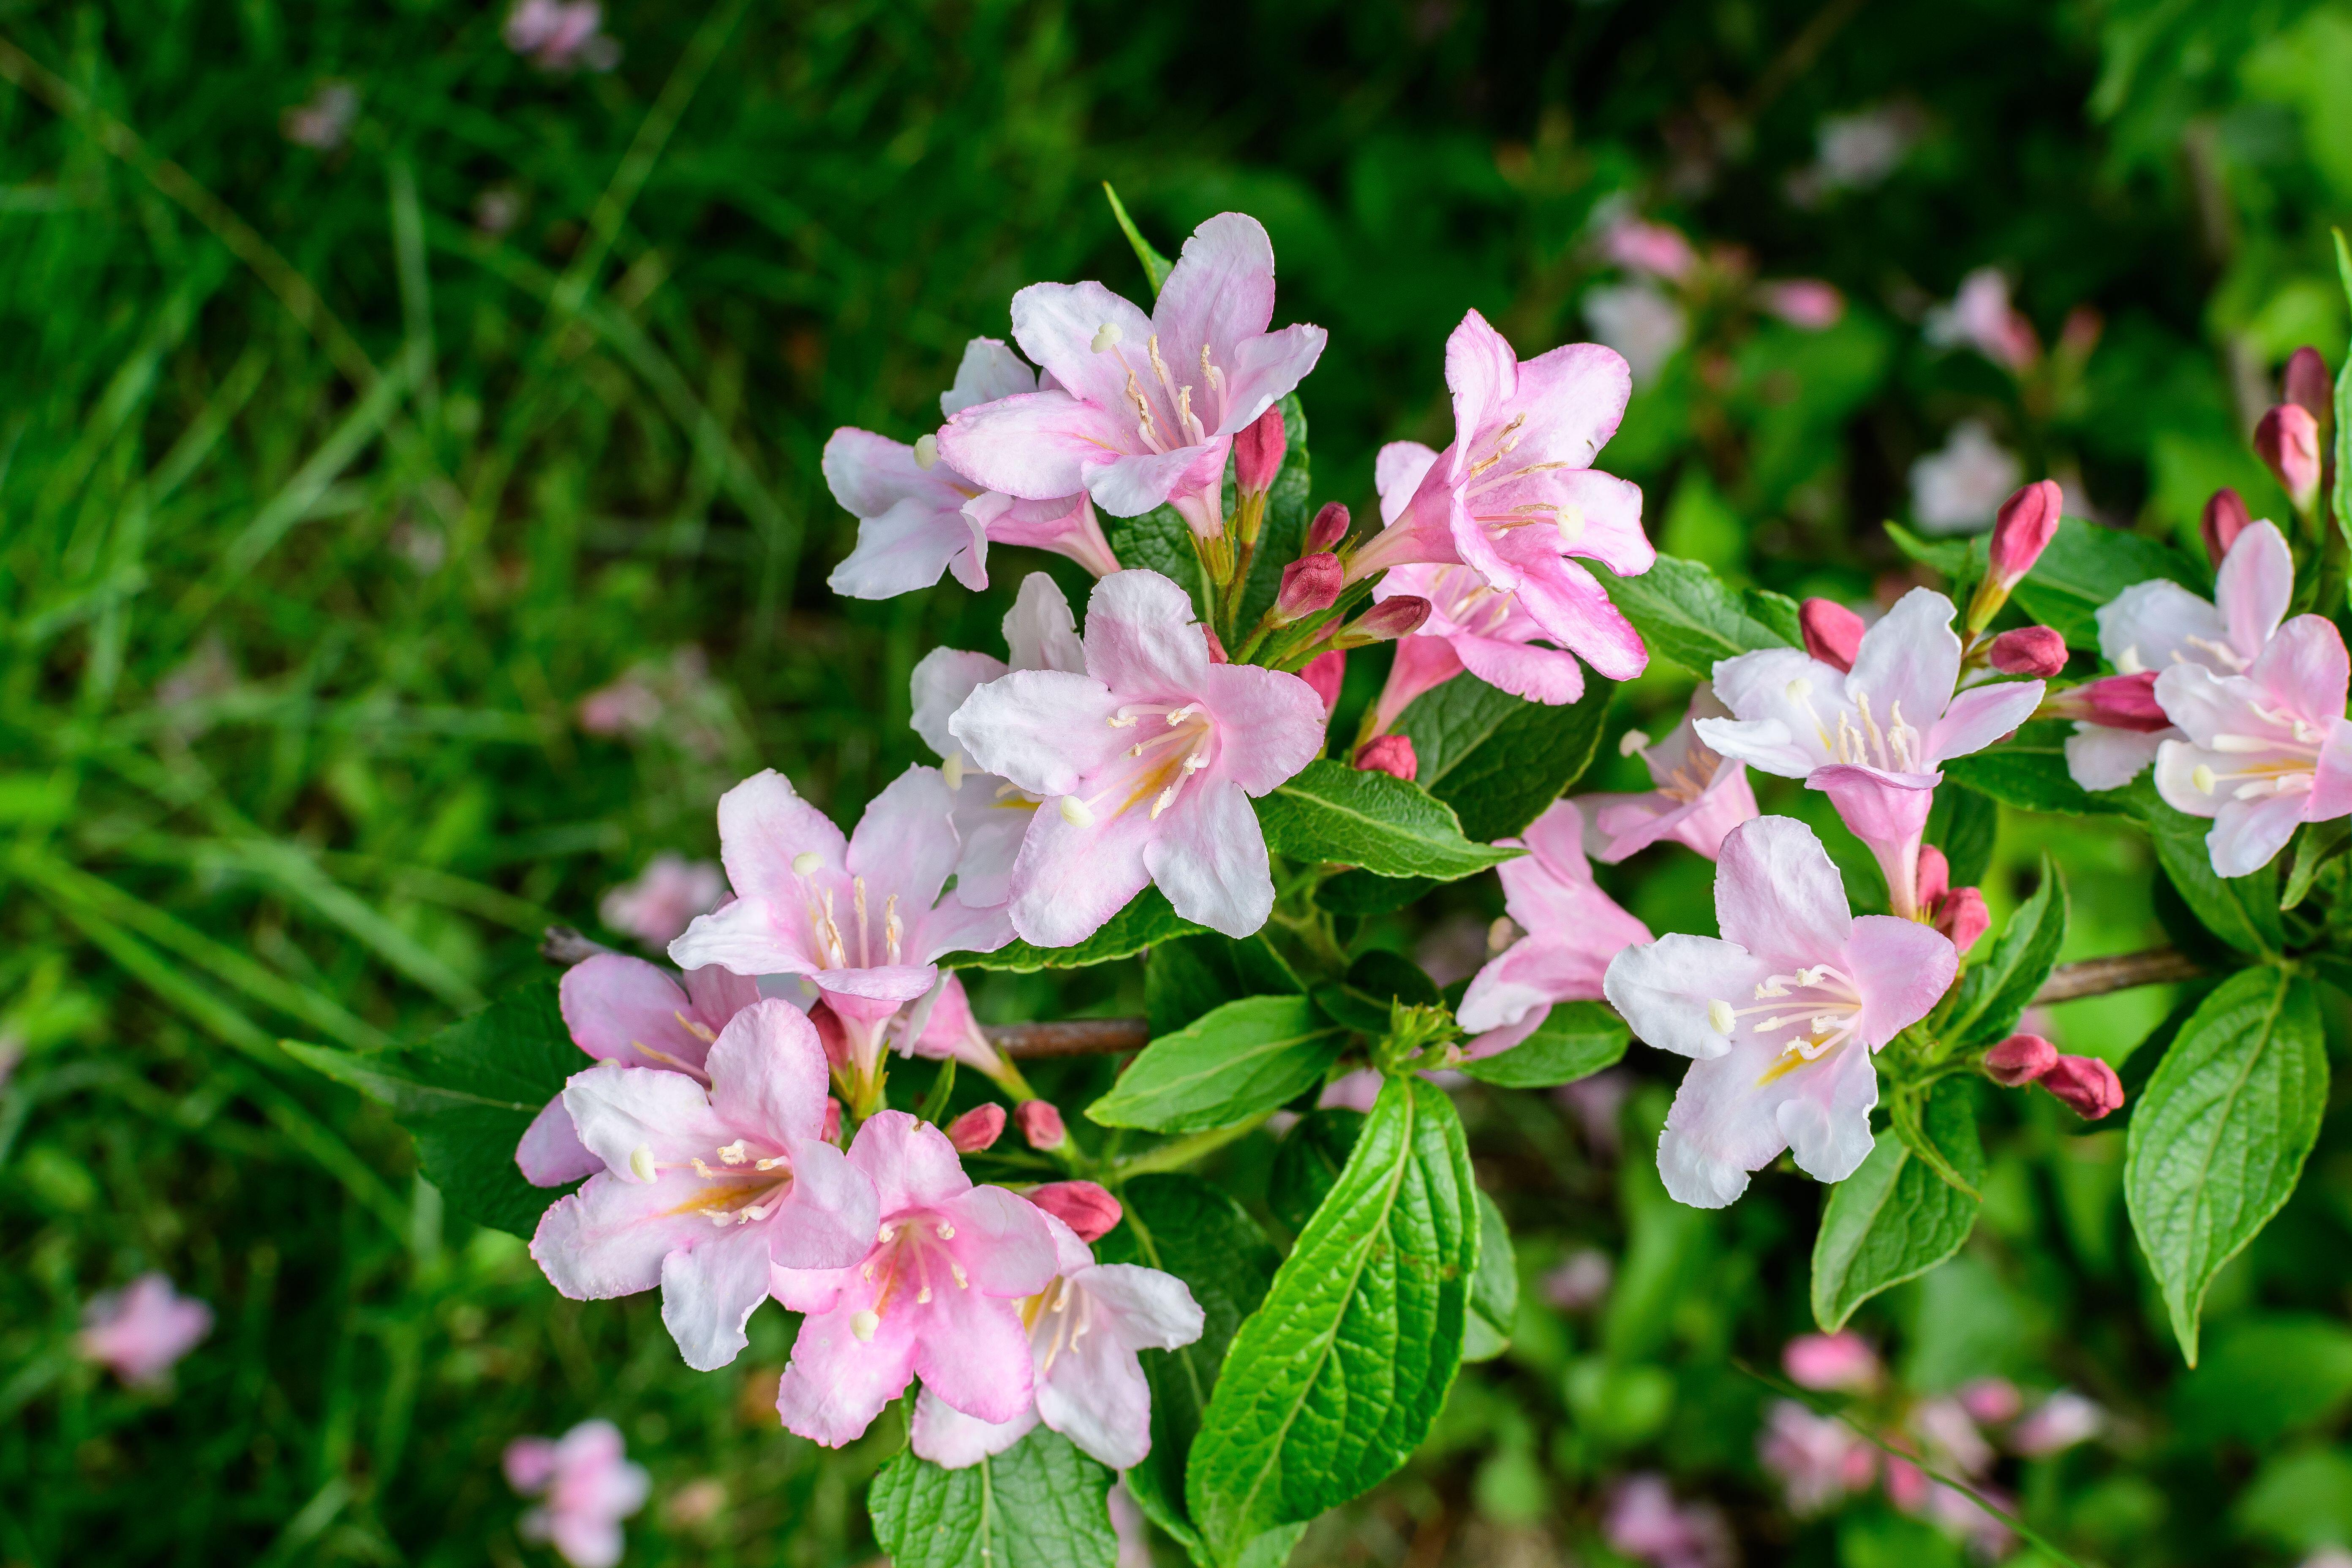
[[[501,21],[0,2],[9,1568],[553,1561],[496,1455],[588,1415],[654,1474],[628,1561],[873,1561],[861,1488],[896,1434],[828,1455],[776,1427],[781,1312],[689,1373],[652,1298],[555,1298],[275,1041],[414,1037],[541,971],[543,924],[593,929],[654,853],[708,856],[717,792],[757,766],[849,818],[917,759],[915,658],[995,646],[1047,562],[1002,552],[983,597],[833,599],[854,522],[816,456],[842,423],[929,428],[1016,287],[1141,294],[1101,181],[1171,252],[1228,207],[1265,221],[1279,315],[1331,331],[1301,388],[1317,498],[1362,515],[1381,442],[1446,440],[1442,343],[1475,306],[1526,355],[1637,350],[1602,465],[1644,484],[1661,548],[1849,602],[1910,581],[1882,520],[1966,510],[1952,487],[1999,454],[2192,548],[2218,484],[2277,508],[2246,430],[2291,348],[2345,343],[2343,2],[623,0],[612,71],[543,71]],[[1616,266],[1621,216],[1703,261]],[[1938,306],[1978,268],[2032,353],[1955,341]],[[1757,280],[1795,277],[1842,292],[1835,324],[1757,310]],[[1359,658],[1352,689],[1376,679]],[[614,682],[659,717],[583,729]],[[1682,689],[1635,682],[1623,722]],[[1997,917],[2042,849],[2074,889],[2067,957],[2159,938],[2145,851],[2074,820],[2004,816]],[[1682,851],[1613,886],[1708,929]],[[1392,936],[1475,961],[1496,910],[1484,886]],[[1136,1011],[1141,985],[976,999]],[[2122,1060],[2173,1001],[2051,1030]],[[1668,1204],[1649,1143],[1677,1065],[1628,1067],[1623,1105],[1461,1093],[1519,1234],[1515,1347],[1298,1561],[1623,1561],[1604,1497],[1651,1469],[1750,1563],[1959,1563],[1877,1500],[1783,1507],[1740,1366],[1809,1326],[1818,1192]],[[1976,1239],[1860,1319],[1905,1387],[1997,1373],[2105,1406],[2100,1441],[1999,1474],[2082,1561],[2352,1542],[2343,1119],[2185,1375],[2119,1133],[2072,1135],[2042,1095],[1983,1110]],[[1263,1192],[1263,1159],[1230,1175]],[[1555,1307],[1578,1248],[1613,1288]],[[172,1392],[71,1349],[85,1302],[151,1267],[219,1314]]]

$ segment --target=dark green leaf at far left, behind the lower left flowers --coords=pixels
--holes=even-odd
[[[414,1046],[332,1051],[287,1041],[306,1067],[390,1107],[416,1140],[416,1166],[475,1225],[515,1237],[569,1187],[534,1187],[515,1166],[524,1128],[595,1067],[564,1027],[555,980],[532,980]]]

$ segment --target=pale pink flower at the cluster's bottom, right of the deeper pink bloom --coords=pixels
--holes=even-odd
[[[924,1387],[908,1441],[934,1465],[978,1465],[1040,1422],[1112,1469],[1141,1465],[1152,1450],[1152,1392],[1136,1352],[1190,1345],[1207,1319],[1174,1274],[1098,1265],[1068,1225],[1049,1213],[1044,1222],[1058,1274],[1021,1307],[1035,1403],[1007,1422],[985,1422]]]

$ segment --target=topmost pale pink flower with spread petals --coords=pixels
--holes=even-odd
[[[1091,491],[1112,517],[1174,505],[1200,538],[1223,538],[1232,437],[1282,402],[1322,357],[1322,327],[1268,331],[1275,247],[1242,212],[1185,240],[1143,315],[1098,282],[1014,294],[1014,339],[1054,390],[962,409],[941,454],[988,489],[1047,498]]]

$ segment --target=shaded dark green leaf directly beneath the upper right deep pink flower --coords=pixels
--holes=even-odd
[[[1414,741],[1414,783],[1486,844],[1524,832],[1583,778],[1613,691],[1616,682],[1590,675],[1578,701],[1548,708],[1456,675],[1414,698],[1397,733]]]

